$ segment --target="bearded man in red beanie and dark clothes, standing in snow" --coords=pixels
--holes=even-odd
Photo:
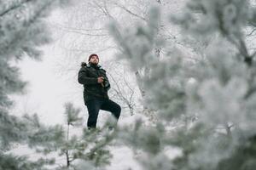
[[[96,128],[97,117],[100,110],[110,111],[118,121],[121,107],[108,98],[110,84],[106,71],[102,69],[97,54],[90,54],[89,64],[82,63],[79,70],[79,83],[84,85],[84,105],[89,113],[87,127]]]

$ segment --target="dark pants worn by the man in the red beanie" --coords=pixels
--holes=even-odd
[[[95,128],[100,110],[110,111],[113,116],[118,120],[121,112],[121,107],[113,102],[111,99],[90,99],[86,102],[87,110],[89,113],[87,127]]]

